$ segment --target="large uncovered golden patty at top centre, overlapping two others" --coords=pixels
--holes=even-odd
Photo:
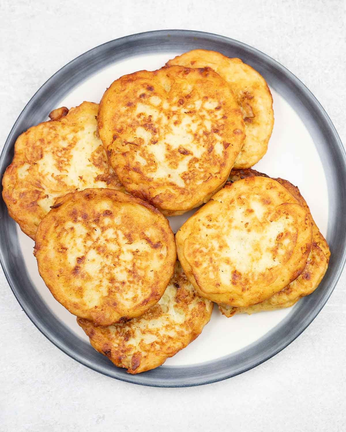
[[[105,92],[98,131],[124,187],[167,216],[209,200],[244,141],[232,89],[208,68],[122,76]]]

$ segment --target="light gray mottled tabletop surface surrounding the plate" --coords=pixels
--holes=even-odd
[[[265,52],[302,79],[346,142],[345,16],[343,1],[1,0],[1,146],[60,67],[103,42],[156,29],[218,33]],[[198,388],[160,389],[102,376],[60,352],[1,271],[0,431],[344,431],[345,283],[344,272],[310,327],[263,365]]]

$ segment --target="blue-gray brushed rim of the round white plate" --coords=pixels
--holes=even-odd
[[[346,218],[343,217],[346,213],[346,153],[333,123],[314,95],[289,70],[255,48],[221,35],[193,30],[156,30],[106,42],[76,57],[41,86],[19,115],[0,156],[1,178],[12,160],[13,146],[19,134],[44,121],[63,95],[97,70],[133,55],[159,51],[183,52],[193,48],[211,49],[229,57],[243,58],[262,73],[268,83],[298,111],[326,166],[327,184],[332,191],[329,194],[332,214],[327,235],[332,256],[328,271],[319,288],[300,300],[270,332],[237,353],[213,362],[181,367],[163,365],[139,375],[129,375],[72,334],[50,311],[45,313],[44,303],[35,292],[24,266],[16,224],[8,216],[3,200],[0,202],[0,262],[13,294],[32,323],[51,343],[79,363],[112,378],[146,386],[209,384],[246,372],[270,359],[292,343],[321,311],[340,278],[346,260]]]

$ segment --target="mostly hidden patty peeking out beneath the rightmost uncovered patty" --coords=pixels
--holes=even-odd
[[[241,178],[258,175],[267,177],[267,175],[252,169],[232,170],[229,180],[238,181]],[[220,311],[227,317],[231,317],[234,314],[247,313],[250,315],[254,312],[289,308],[305,295],[309,295],[311,292],[314,292],[327,271],[330,257],[329,247],[327,241],[317,228],[317,225],[311,216],[308,204],[300,194],[298,187],[294,186],[287,180],[283,180],[282,178],[276,178],[276,181],[286,187],[286,189],[290,192],[290,194],[293,195],[293,197],[295,197],[298,203],[308,210],[312,223],[312,244],[308,261],[303,272],[296,280],[291,282],[283,290],[277,292],[269,299],[264,300],[264,302],[258,303],[257,305],[248,306],[247,308],[236,308],[228,305],[219,305]]]

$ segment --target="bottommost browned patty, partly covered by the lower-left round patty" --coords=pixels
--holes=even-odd
[[[212,311],[213,303],[195,292],[177,261],[165,294],[141,317],[109,327],[94,327],[81,318],[77,322],[99,353],[137,374],[162,365],[195,340]]]

